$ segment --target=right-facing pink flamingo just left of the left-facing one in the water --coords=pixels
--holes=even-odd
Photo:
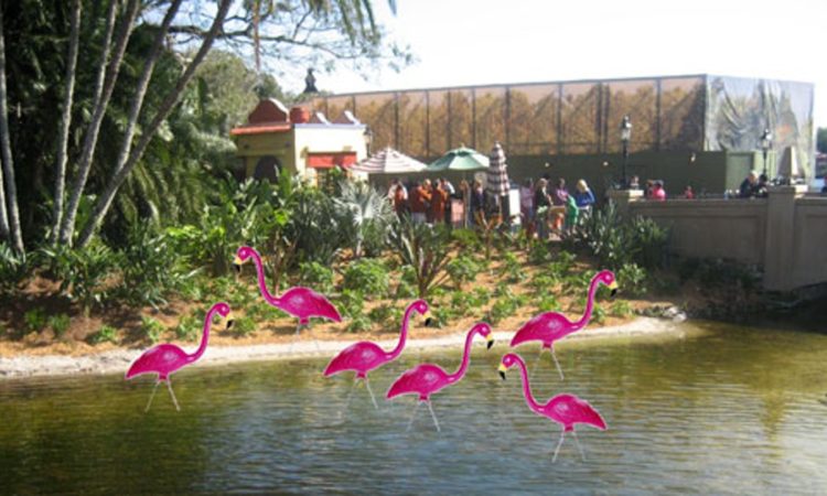
[[[402,373],[402,375],[390,386],[386,396],[387,399],[401,395],[419,395],[419,401],[414,409],[410,422],[408,422],[408,430],[410,430],[410,427],[414,424],[414,419],[417,416],[419,406],[425,402],[428,405],[428,410],[431,412],[433,424],[437,425],[437,432],[440,432],[437,416],[433,413],[433,407],[431,407],[431,395],[447,386],[459,382],[465,376],[465,370],[468,370],[468,364],[471,359],[471,343],[476,334],[483,336],[487,341],[488,349],[491,349],[491,346],[494,344],[494,336],[491,333],[491,326],[488,324],[481,322],[471,327],[471,331],[468,332],[468,336],[465,336],[465,351],[462,354],[460,368],[458,368],[455,373],[448,374],[440,366],[434,364],[420,364]]]

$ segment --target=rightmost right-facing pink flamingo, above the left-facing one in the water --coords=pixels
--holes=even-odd
[[[583,316],[579,321],[571,322],[566,319],[566,315],[558,312],[546,312],[535,315],[517,330],[517,333],[512,338],[511,346],[515,347],[523,343],[528,343],[529,341],[541,342],[543,347],[540,347],[540,356],[543,356],[544,351],[551,351],[551,357],[555,359],[557,371],[560,373],[560,379],[563,380],[562,368],[560,368],[560,363],[557,362],[557,355],[555,354],[555,342],[562,339],[571,333],[580,331],[589,324],[591,311],[594,306],[594,293],[598,291],[598,283],[608,285],[609,289],[612,290],[612,296],[617,292],[617,282],[614,280],[614,273],[611,270],[602,270],[598,272],[591,279],[591,283],[589,284],[589,298],[586,303],[586,312],[583,312]],[[537,357],[537,362],[539,362],[540,356]]]

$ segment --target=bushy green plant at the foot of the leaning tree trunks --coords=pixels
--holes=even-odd
[[[54,249],[44,249],[43,255],[50,271],[61,281],[61,291],[71,301],[79,303],[85,315],[93,306],[103,306],[108,301],[106,283],[116,273],[121,257],[106,245],[93,242],[80,249],[58,245]]]

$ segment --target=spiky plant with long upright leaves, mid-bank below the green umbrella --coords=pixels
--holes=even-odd
[[[406,216],[393,224],[389,239],[402,262],[414,268],[419,298],[427,298],[448,278],[450,234],[443,225],[414,224]]]

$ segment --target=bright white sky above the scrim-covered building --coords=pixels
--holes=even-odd
[[[716,74],[814,83],[827,127],[825,0],[374,0],[417,62],[367,78],[316,74],[335,94],[501,83]],[[297,74],[298,82],[303,79]],[[289,78],[293,79],[293,78]]]

